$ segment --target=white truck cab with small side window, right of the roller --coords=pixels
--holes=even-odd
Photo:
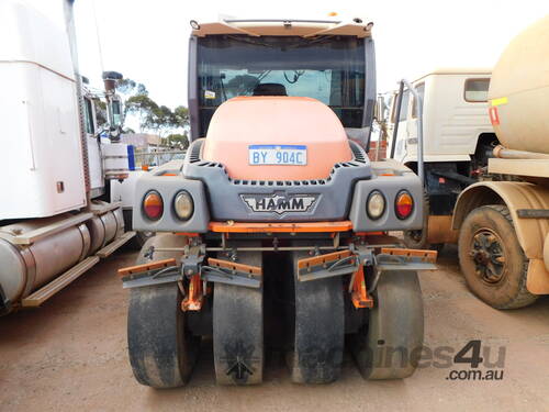
[[[490,74],[490,69],[440,68],[413,81],[424,100],[425,162],[470,162],[479,137],[494,133],[486,102]],[[392,93],[391,101],[390,136],[396,122],[396,92]],[[404,164],[417,162],[414,104],[410,91],[405,90],[394,151],[394,158]],[[391,140],[390,146],[393,143]]]

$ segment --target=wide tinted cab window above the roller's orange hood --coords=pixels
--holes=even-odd
[[[352,36],[199,38],[200,134],[224,101],[236,96],[310,97],[329,105],[344,126],[361,127],[365,44]]]

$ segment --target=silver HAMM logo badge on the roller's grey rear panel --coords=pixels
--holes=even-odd
[[[278,214],[289,212],[306,212],[316,202],[318,194],[240,194],[244,202],[254,212],[274,212]]]

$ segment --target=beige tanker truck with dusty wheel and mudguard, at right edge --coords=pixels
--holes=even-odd
[[[549,16],[519,34],[492,73],[490,120],[501,146],[458,198],[459,261],[469,288],[498,309],[549,293]],[[517,181],[519,180],[519,181]]]

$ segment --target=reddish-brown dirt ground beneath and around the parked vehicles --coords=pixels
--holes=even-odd
[[[210,343],[188,387],[143,387],[126,355],[127,292],[115,276],[134,257],[112,256],[42,309],[0,319],[0,411],[549,410],[549,299],[522,310],[491,309],[468,292],[456,248],[445,249],[439,270],[421,274],[425,344],[455,354],[480,339],[494,359],[503,347],[501,380],[447,379],[468,365],[437,368],[426,357],[404,381],[365,381],[347,354],[337,382],[298,386],[282,357],[267,354],[262,386],[217,387]]]

